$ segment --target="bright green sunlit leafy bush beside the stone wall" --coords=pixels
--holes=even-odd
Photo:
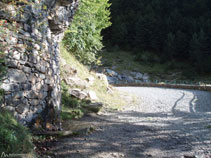
[[[101,31],[110,26],[108,0],[81,0],[71,27],[65,34],[64,44],[77,59],[88,65],[96,63],[102,49]]]

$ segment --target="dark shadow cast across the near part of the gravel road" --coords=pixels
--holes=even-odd
[[[181,157],[211,154],[211,105],[203,104],[203,95],[193,92],[189,112],[180,111],[178,103],[165,112],[113,112],[87,116],[81,122],[97,125],[90,135],[63,138],[53,146],[53,157],[68,158],[142,158]],[[210,98],[209,98],[210,97]],[[211,101],[211,95],[208,95]]]

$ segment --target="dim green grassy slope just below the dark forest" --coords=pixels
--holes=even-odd
[[[158,56],[150,52],[142,52],[141,55],[137,56],[133,52],[116,50],[103,51],[101,55],[102,66],[109,67],[118,73],[129,71],[148,73],[152,80],[211,80],[209,74],[196,74],[193,66],[188,63],[178,61],[162,63]]]

